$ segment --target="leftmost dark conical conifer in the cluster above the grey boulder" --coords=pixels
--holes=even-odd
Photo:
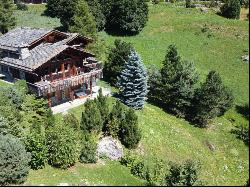
[[[100,133],[103,128],[103,121],[96,102],[88,100],[84,106],[81,129],[88,133]]]

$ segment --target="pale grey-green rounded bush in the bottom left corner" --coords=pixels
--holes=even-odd
[[[0,185],[20,184],[29,173],[30,154],[11,135],[0,135]]]

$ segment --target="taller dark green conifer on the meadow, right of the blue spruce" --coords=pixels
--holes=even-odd
[[[161,78],[161,100],[171,112],[185,117],[190,110],[199,76],[193,63],[181,60],[175,45],[169,46]]]

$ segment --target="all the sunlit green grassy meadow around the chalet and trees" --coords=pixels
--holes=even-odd
[[[44,9],[44,5],[30,5],[29,11],[16,11],[18,26],[59,27],[58,19],[43,16]],[[210,70],[216,70],[232,89],[236,106],[248,102],[249,64],[241,60],[241,56],[249,52],[248,21],[229,20],[213,11],[202,13],[198,9],[165,4],[150,5],[149,10],[149,21],[139,35],[119,37],[101,32],[100,37],[107,46],[117,38],[131,42],[146,66],[155,64],[157,67],[161,67],[168,45],[175,43],[182,58],[196,64],[202,80]],[[113,103],[114,98],[109,102]],[[82,111],[82,106],[71,110],[79,119]],[[245,184],[249,177],[249,148],[236,139],[231,130],[236,124],[248,124],[249,121],[236,108],[217,118],[208,129],[196,128],[150,104],[137,114],[143,136],[136,151],[148,164],[156,157],[176,162],[192,158],[200,161],[201,179],[206,185]],[[57,117],[60,120],[61,116]],[[210,150],[208,144],[213,144],[215,150]],[[47,166],[31,171],[25,185],[63,182],[145,184],[118,162],[106,161],[96,165],[77,163],[68,170]]]

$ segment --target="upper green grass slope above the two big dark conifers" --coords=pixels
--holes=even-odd
[[[248,102],[249,64],[241,60],[248,54],[248,22],[229,20],[214,12],[175,8],[165,4],[149,6],[149,21],[144,30],[133,37],[101,37],[110,45],[116,38],[131,42],[146,65],[161,66],[167,47],[175,43],[183,59],[193,61],[204,79],[210,70],[220,73],[234,92],[237,103]],[[212,37],[201,30],[206,24]]]

